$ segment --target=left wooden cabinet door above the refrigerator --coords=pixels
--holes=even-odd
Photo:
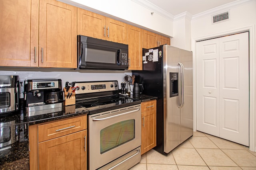
[[[142,48],[150,49],[158,47],[158,35],[150,31],[143,30],[143,45]]]

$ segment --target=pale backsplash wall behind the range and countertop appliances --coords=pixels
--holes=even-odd
[[[125,75],[132,75],[130,70],[69,70],[69,69],[49,69],[49,68],[0,68],[0,75],[18,75],[20,80],[35,79],[35,78],[59,78],[62,80],[62,88],[65,82],[73,81],[102,81],[102,80],[117,80],[119,88],[123,82]],[[21,87],[23,91],[23,87]],[[23,93],[20,92],[20,98],[23,98]]]

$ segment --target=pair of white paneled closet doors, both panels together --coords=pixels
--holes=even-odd
[[[249,146],[248,32],[196,43],[197,130]]]

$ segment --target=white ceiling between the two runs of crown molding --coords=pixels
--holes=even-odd
[[[211,10],[213,8],[241,0],[145,0],[154,4],[158,8],[176,16],[183,12],[189,12],[192,15]]]

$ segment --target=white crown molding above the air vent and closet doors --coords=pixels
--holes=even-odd
[[[205,17],[205,16],[209,16],[209,15],[212,15],[212,14],[215,14],[215,13],[218,13],[218,12],[222,12],[224,10],[229,10],[231,8],[236,8],[238,6],[249,4],[249,3],[252,3],[252,2],[256,2],[256,0],[237,0],[237,1],[234,1],[234,2],[230,2],[228,4],[218,6],[216,8],[212,8],[210,10],[195,14],[192,17],[192,20],[196,20],[196,19],[199,19],[199,18],[202,18],[202,17]]]

